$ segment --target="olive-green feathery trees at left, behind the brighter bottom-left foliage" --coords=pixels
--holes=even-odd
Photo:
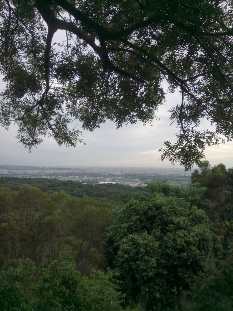
[[[0,196],[6,188],[0,189]],[[30,258],[38,267],[48,256],[75,251],[76,267],[83,273],[104,265],[101,254],[109,211],[93,198],[70,197],[65,192],[47,195],[22,186],[9,192],[11,200],[0,210],[0,268]],[[10,203],[11,202],[11,203]]]

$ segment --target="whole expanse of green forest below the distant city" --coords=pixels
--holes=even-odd
[[[1,178],[1,310],[232,310],[233,169],[146,191],[24,181]]]

